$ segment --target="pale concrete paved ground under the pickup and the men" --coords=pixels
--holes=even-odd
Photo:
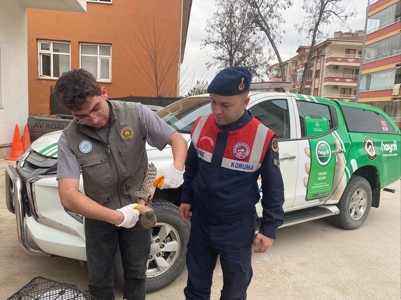
[[[87,270],[64,257],[37,257],[19,245],[15,215],[5,204],[4,168],[0,160],[0,298],[11,296],[36,276],[87,289]],[[400,181],[382,192],[364,225],[343,230],[328,219],[279,229],[268,253],[254,254],[254,277],[248,299],[400,299],[401,214]],[[222,286],[216,269],[212,299]],[[148,293],[148,300],[183,299],[186,271],[166,288]],[[116,299],[122,293],[116,289]]]

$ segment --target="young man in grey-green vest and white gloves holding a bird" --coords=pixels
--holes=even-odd
[[[53,94],[75,116],[59,139],[57,179],[62,205],[85,216],[89,292],[114,299],[119,246],[124,299],[145,299],[151,234],[135,226],[139,212],[132,207],[148,166],[145,142],[159,150],[171,145],[174,162],[159,175],[164,176],[161,188],[176,188],[186,141],[145,106],[107,100],[105,87],[86,70],[64,73]],[[80,171],[85,194],[79,191]]]

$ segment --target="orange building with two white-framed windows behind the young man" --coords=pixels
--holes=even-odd
[[[29,115],[50,113],[64,72],[84,68],[110,98],[176,97],[192,0],[87,0],[87,12],[27,11]]]

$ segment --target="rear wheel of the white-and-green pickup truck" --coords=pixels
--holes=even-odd
[[[363,177],[351,176],[337,204],[340,213],[333,216],[334,223],[344,229],[356,229],[366,220],[371,205],[369,182]]]

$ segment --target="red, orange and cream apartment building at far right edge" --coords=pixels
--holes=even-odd
[[[370,0],[358,102],[374,105],[401,128],[401,1]]]

